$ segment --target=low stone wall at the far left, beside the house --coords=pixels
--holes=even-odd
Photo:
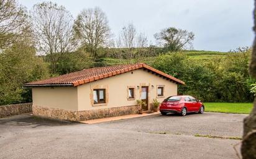
[[[22,103],[17,105],[2,105],[0,106],[0,118],[15,114],[32,112],[32,103]]]

